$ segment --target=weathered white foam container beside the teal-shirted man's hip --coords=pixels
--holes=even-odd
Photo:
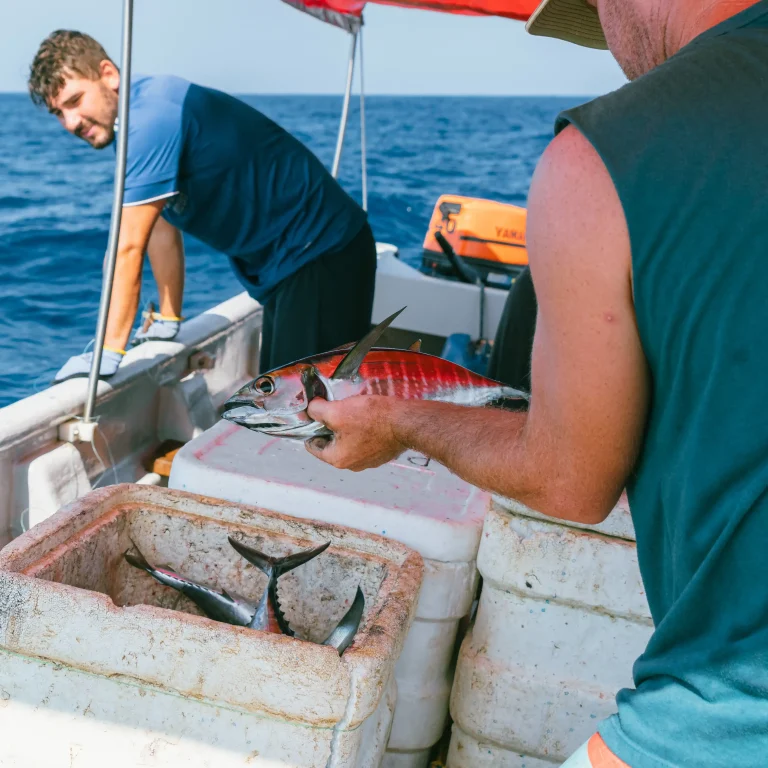
[[[449,768],[560,765],[615,711],[652,632],[626,498],[599,526],[495,498],[478,568]]]

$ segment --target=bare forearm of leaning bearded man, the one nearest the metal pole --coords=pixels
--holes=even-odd
[[[124,349],[139,307],[141,268],[152,228],[165,200],[123,208],[115,263],[115,280],[109,304],[105,346]]]

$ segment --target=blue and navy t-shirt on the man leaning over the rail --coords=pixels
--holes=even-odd
[[[344,248],[366,220],[317,157],[258,110],[178,77],[137,77],[124,205],[163,198],[163,216],[229,256],[258,300]]]

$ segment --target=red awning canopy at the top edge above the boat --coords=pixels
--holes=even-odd
[[[366,0],[284,1],[294,8],[306,11],[347,31],[360,26],[366,4]],[[368,2],[470,16],[502,16],[518,21],[526,21],[538,5],[538,0],[368,0]]]

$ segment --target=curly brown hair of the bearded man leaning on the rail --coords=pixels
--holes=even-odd
[[[29,68],[29,95],[38,106],[50,105],[67,76],[96,80],[102,61],[112,62],[107,52],[89,35],[69,29],[51,32],[40,44]],[[114,64],[114,62],[112,62]]]

